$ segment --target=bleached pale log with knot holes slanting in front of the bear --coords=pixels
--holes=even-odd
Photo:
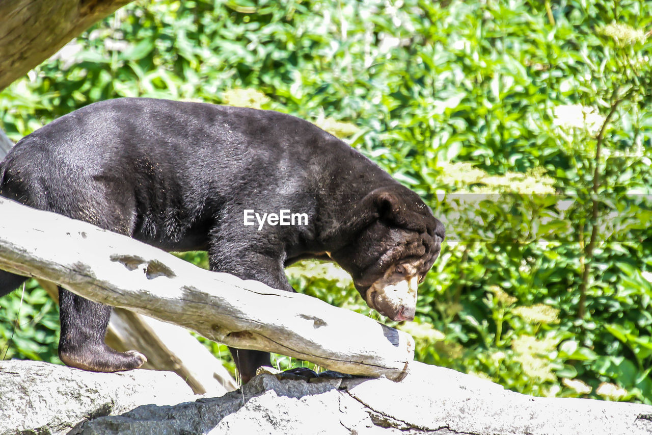
[[[408,334],[316,298],[209,272],[131,238],[0,198],[0,268],[233,347],[402,379]]]

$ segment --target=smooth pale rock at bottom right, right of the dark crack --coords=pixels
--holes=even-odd
[[[652,421],[645,419],[652,406],[531,397],[505,391],[483,379],[419,363],[400,383],[387,379],[358,382],[348,386],[348,394],[364,404],[377,424],[404,429],[445,428],[455,434],[473,435],[652,433]]]

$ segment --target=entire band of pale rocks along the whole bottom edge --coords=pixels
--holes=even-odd
[[[0,434],[652,433],[652,406],[534,398],[418,362],[399,383],[261,374],[217,398],[193,396],[175,378],[0,362]],[[34,423],[27,425],[26,416]]]

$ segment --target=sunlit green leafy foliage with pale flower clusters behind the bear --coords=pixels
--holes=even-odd
[[[651,12],[650,1],[136,1],[2,91],[1,127],[18,140],[122,96],[310,120],[447,227],[417,319],[398,325],[419,361],[527,394],[652,404]],[[288,276],[379,318],[333,265]],[[57,306],[35,282],[0,305],[0,355],[59,362]]]

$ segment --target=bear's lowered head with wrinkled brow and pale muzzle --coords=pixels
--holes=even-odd
[[[348,217],[342,223],[348,231],[340,232],[347,237],[339,238],[331,257],[371,308],[396,321],[412,320],[417,285],[439,255],[443,225],[402,185],[368,193]]]

